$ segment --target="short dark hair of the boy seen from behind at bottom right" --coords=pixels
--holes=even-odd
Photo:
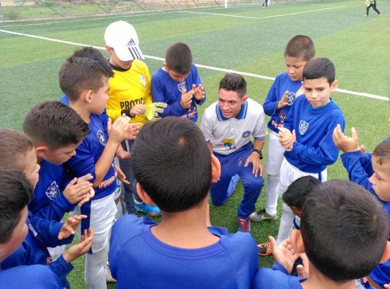
[[[389,237],[389,218],[363,187],[331,180],[314,187],[303,206],[301,233],[314,267],[334,282],[367,276]]]

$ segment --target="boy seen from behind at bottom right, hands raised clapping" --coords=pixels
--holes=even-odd
[[[329,224],[329,220],[333,220]],[[300,231],[279,246],[273,237],[272,269],[262,268],[254,289],[348,289],[389,259],[389,220],[382,205],[361,186],[345,180],[318,184],[305,200]],[[370,250],[368,250],[370,248]],[[306,253],[309,276],[288,275]]]

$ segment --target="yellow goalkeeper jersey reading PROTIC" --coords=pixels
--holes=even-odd
[[[113,70],[114,77],[108,81],[107,115],[114,122],[121,116],[122,110],[131,109],[136,104],[152,103],[152,94],[149,69],[141,60],[134,60],[128,70],[116,66],[113,66]],[[144,124],[147,121],[146,117],[136,116],[130,123]]]

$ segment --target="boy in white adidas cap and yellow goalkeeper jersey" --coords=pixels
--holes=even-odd
[[[131,24],[116,21],[106,28],[104,40],[106,52],[111,57],[108,62],[114,71],[114,77],[110,77],[108,83],[107,115],[113,122],[117,117],[125,114],[131,117],[131,123],[144,124],[150,119],[145,116],[146,106],[153,102],[149,69],[139,60],[144,57],[138,46],[137,32]],[[122,148],[130,153],[133,142],[133,140],[123,141]],[[129,156],[130,154],[126,154],[126,157]],[[130,184],[123,183],[127,212],[137,214],[137,211],[141,211],[152,216],[160,215],[158,207],[146,205],[138,198],[134,190],[134,173],[129,160],[119,159],[119,167],[130,182]]]

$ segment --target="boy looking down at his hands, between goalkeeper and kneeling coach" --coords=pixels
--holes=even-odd
[[[153,101],[168,104],[160,116],[181,116],[196,122],[196,105],[205,102],[206,94],[192,62],[190,47],[181,42],[171,44],[165,61],[153,74],[151,84]]]

